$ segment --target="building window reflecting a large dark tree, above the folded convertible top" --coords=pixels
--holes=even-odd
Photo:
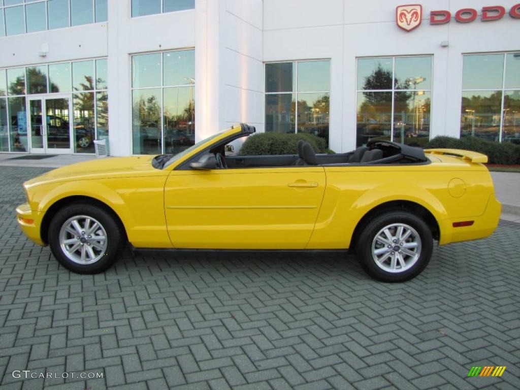
[[[357,140],[423,146],[430,139],[432,56],[358,58]]]

